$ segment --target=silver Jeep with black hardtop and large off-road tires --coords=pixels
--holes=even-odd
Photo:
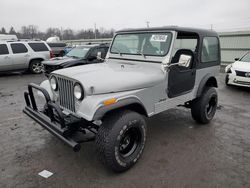
[[[219,69],[220,45],[214,31],[121,30],[104,63],[57,70],[40,86],[29,84],[24,113],[74,151],[80,150],[80,143],[94,140],[102,161],[122,172],[142,154],[145,117],[184,106],[191,108],[196,122],[212,120]],[[34,89],[46,99],[42,110]]]

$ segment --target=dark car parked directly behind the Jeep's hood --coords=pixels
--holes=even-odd
[[[52,71],[57,69],[103,62],[108,49],[108,44],[77,46],[63,57],[56,57],[43,61],[44,73],[48,77]],[[97,59],[98,52],[101,53],[101,59]]]

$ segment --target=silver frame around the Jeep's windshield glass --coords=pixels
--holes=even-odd
[[[116,37],[118,35],[129,35],[129,34],[168,34],[168,37],[170,39],[167,39],[167,40],[170,40],[170,43],[169,43],[169,46],[168,46],[168,49],[167,51],[162,54],[162,55],[151,55],[151,54],[144,54],[144,53],[137,53],[137,54],[132,54],[132,53],[118,53],[118,52],[113,52],[112,51],[112,48],[113,48],[113,45],[114,45],[114,41],[116,39]],[[139,41],[139,40],[138,40]],[[114,36],[114,39],[112,41],[112,44],[110,46],[110,54],[120,54],[120,55],[128,55],[128,56],[147,56],[147,57],[165,57],[166,55],[169,54],[170,50],[171,50],[171,46],[172,46],[172,43],[173,43],[173,32],[172,31],[169,31],[169,30],[163,30],[163,31],[143,31],[143,32],[125,32],[125,33],[117,33],[115,36]]]

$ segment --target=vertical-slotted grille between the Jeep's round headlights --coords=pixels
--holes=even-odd
[[[74,82],[57,77],[59,104],[62,108],[75,112]]]

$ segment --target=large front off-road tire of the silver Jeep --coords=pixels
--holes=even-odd
[[[102,122],[96,136],[96,147],[101,161],[114,172],[128,170],[143,152],[147,132],[145,119],[136,112],[123,110],[105,116]],[[131,137],[129,144],[124,146],[123,143],[131,131],[134,131],[134,139]],[[137,145],[132,147],[136,137]],[[128,156],[123,155],[126,147],[133,149],[128,152]]]

